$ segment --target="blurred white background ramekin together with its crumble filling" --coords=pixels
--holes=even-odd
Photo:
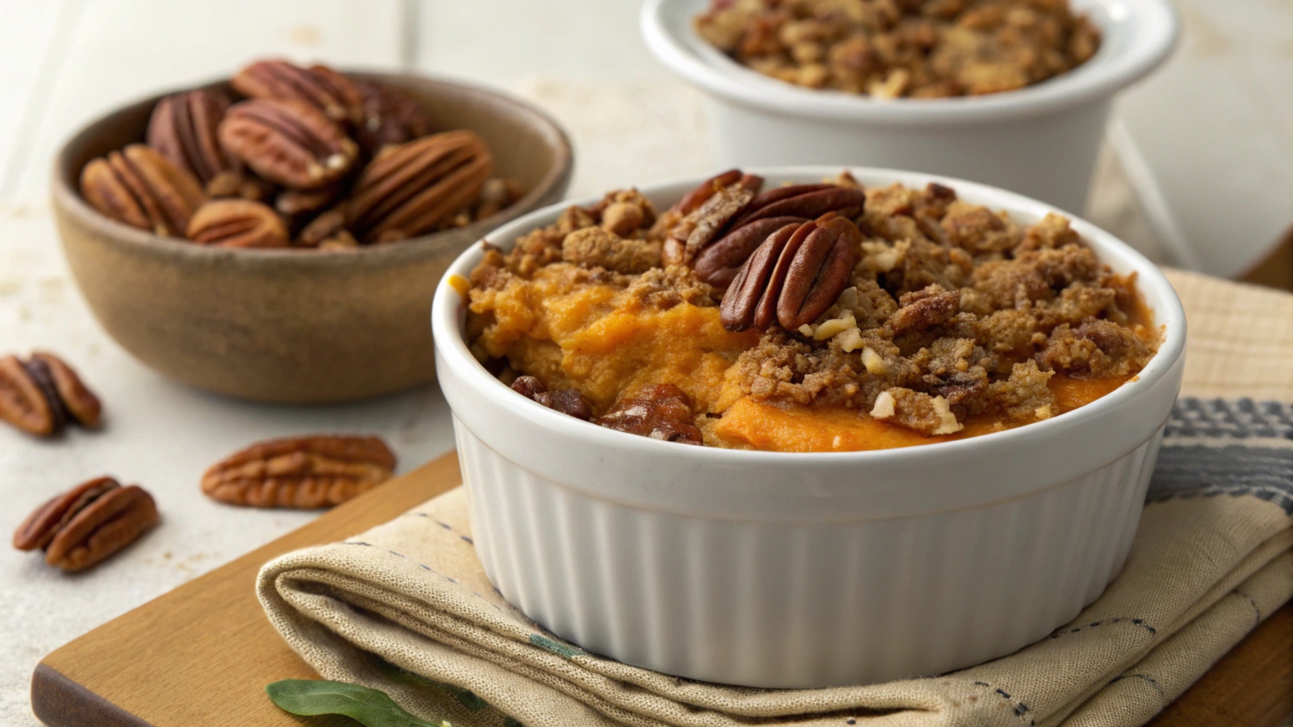
[[[648,0],[718,160],[976,179],[1081,213],[1113,97],[1159,66],[1166,0]]]

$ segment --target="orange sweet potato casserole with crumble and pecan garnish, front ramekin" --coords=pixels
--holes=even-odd
[[[1068,220],[847,173],[731,170],[665,212],[636,190],[472,271],[467,340],[504,384],[593,424],[692,444],[879,449],[1081,407],[1153,356],[1134,276]]]

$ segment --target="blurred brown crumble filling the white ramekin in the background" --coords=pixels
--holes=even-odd
[[[693,25],[760,74],[877,98],[1014,90],[1100,46],[1068,0],[712,0]]]

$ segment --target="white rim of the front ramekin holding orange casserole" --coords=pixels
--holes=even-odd
[[[460,318],[464,316],[465,301],[450,283],[450,279],[455,275],[469,278],[471,270],[484,256],[484,244],[489,243],[504,251],[511,249],[517,236],[535,229],[539,225],[548,223],[565,208],[570,205],[593,204],[597,199],[600,199],[587,198],[581,200],[561,201],[518,217],[491,231],[481,240],[473,243],[463,251],[463,253],[459,254],[453,263],[450,263],[437,285],[431,312],[432,342],[437,353],[437,371],[440,372],[440,377],[445,376],[445,372],[440,368],[440,365],[442,365],[442,363],[447,364],[447,368],[451,369],[454,374],[463,377],[465,386],[469,386],[481,395],[491,398],[495,404],[500,405],[509,413],[520,416],[530,424],[540,426],[552,434],[582,439],[592,445],[606,448],[609,451],[634,447],[639,451],[668,456],[674,460],[681,458],[687,461],[706,462],[710,465],[718,464],[738,467],[747,467],[751,465],[776,467],[785,467],[787,465],[811,466],[813,462],[822,464],[826,461],[837,464],[857,462],[859,465],[900,465],[915,457],[958,458],[975,453],[976,449],[981,449],[984,447],[1007,449],[1027,445],[1029,439],[1063,438],[1067,433],[1073,433],[1082,425],[1089,424],[1090,420],[1106,416],[1115,409],[1126,405],[1131,399],[1140,398],[1142,394],[1149,394],[1151,390],[1155,389],[1155,386],[1173,371],[1182,358],[1186,345],[1186,316],[1184,309],[1182,307],[1181,300],[1177,297],[1171,283],[1168,282],[1155,263],[1115,235],[1054,205],[1020,194],[1010,192],[999,187],[993,187],[990,185],[971,182],[968,179],[875,167],[751,167],[745,169],[745,172],[759,174],[768,179],[794,177],[821,179],[839,173],[842,168],[848,169],[855,177],[864,181],[864,183],[866,183],[865,179],[868,178],[886,181],[879,183],[901,182],[906,186],[923,186],[927,182],[937,182],[954,189],[961,199],[970,199],[978,204],[1005,209],[1015,217],[1027,214],[1029,218],[1040,220],[1047,212],[1063,214],[1071,221],[1073,227],[1087,243],[1094,241],[1094,247],[1099,248],[1098,252],[1100,252],[1102,262],[1108,263],[1111,262],[1111,257],[1116,258],[1124,269],[1137,272],[1137,287],[1142,296],[1147,298],[1152,297],[1160,301],[1156,306],[1152,306],[1155,323],[1160,325],[1160,329],[1162,331],[1162,341],[1159,345],[1159,350],[1144,365],[1144,368],[1130,381],[1077,409],[1064,412],[1045,421],[1027,424],[1005,431],[994,431],[978,436],[967,436],[965,439],[932,442],[912,447],[856,452],[772,452],[763,449],[728,449],[723,447],[680,445],[674,442],[657,440],[649,436],[637,436],[596,426],[560,412],[555,412],[538,402],[520,396],[509,386],[506,386],[502,381],[491,376],[467,349],[460,323]],[[676,195],[681,196],[685,190],[694,187],[705,178],[707,177],[676,178],[668,182],[644,185],[640,190],[646,196],[676,190]],[[962,192],[968,194],[962,195]],[[1152,296],[1148,294],[1151,291]],[[1173,395],[1173,399],[1174,398],[1175,394]],[[1139,444],[1140,442],[1127,442],[1126,451],[1131,451]]]

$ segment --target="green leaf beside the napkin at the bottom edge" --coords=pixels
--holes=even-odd
[[[344,714],[365,727],[451,727],[409,714],[380,690],[345,682],[283,679],[265,684],[265,693],[292,714]]]

